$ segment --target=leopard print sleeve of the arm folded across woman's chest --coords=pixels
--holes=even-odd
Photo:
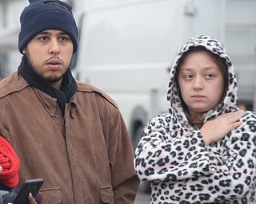
[[[174,137],[165,128],[166,121],[158,116],[144,128],[135,151],[138,177],[146,182],[177,182],[212,174],[217,161],[210,155],[200,131]]]

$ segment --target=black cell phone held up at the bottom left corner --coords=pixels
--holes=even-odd
[[[18,191],[18,195],[14,200],[14,204],[30,204],[27,198],[31,193],[35,198],[38,194],[43,183],[43,179],[30,179],[26,180],[21,189]]]

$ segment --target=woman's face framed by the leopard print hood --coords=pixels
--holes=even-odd
[[[182,98],[190,114],[201,114],[218,105],[224,91],[223,75],[206,51],[190,53],[178,74]]]

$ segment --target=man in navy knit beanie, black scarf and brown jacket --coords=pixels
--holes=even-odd
[[[0,132],[21,161],[20,183],[44,179],[42,203],[133,203],[134,152],[114,101],[74,80],[71,6],[30,0],[22,11],[18,72],[0,82]]]

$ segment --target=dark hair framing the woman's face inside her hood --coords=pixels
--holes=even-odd
[[[178,61],[177,70],[176,70],[176,73],[174,75],[175,84],[177,85],[177,88],[179,90],[178,74],[180,72],[180,68],[181,68],[182,64],[184,63],[184,61],[186,60],[186,57],[190,53],[199,52],[199,51],[204,51],[204,52],[208,53],[210,55],[210,57],[214,60],[214,62],[218,65],[218,68],[220,69],[220,71],[222,73],[222,77],[223,77],[223,80],[224,80],[224,90],[223,90],[222,99],[221,99],[221,101],[222,101],[222,100],[224,100],[224,97],[226,96],[226,92],[227,92],[227,89],[228,89],[228,86],[229,86],[229,73],[228,73],[226,61],[222,57],[219,57],[218,55],[210,52],[210,50],[206,49],[205,47],[202,47],[202,46],[193,47],[182,55],[182,57]],[[182,100],[182,108],[184,109],[184,111],[188,112],[187,105],[184,102],[184,100],[182,99],[181,92],[178,91],[178,94],[179,94],[180,99]]]

